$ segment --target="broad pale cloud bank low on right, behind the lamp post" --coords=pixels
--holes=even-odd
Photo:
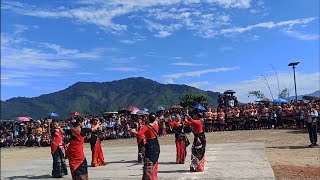
[[[279,73],[280,90],[288,88],[290,90],[290,96],[294,95],[294,82],[292,72]],[[296,73],[297,93],[298,95],[304,95],[312,93],[320,89],[320,72],[315,73]],[[277,85],[277,77],[275,75],[266,76],[266,79],[271,87],[271,92],[274,98],[277,98],[279,93]],[[212,91],[224,92],[227,89],[235,90],[236,96],[240,102],[252,102],[255,99],[253,97],[248,98],[247,94],[252,90],[260,90],[267,97],[271,98],[271,94],[267,87],[266,81],[263,77],[257,77],[255,79],[248,79],[233,84],[219,84],[210,88]]]

